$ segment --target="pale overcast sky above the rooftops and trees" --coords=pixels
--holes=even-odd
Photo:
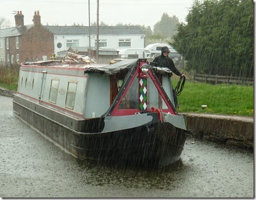
[[[15,26],[15,10],[24,14],[24,25],[32,24],[35,10],[39,10],[43,25],[89,25],[97,21],[97,0],[0,0],[0,17],[5,17]],[[154,27],[166,12],[185,22],[193,0],[99,0],[99,22],[108,25],[117,23]]]

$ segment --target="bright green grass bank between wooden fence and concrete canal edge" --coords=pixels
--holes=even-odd
[[[172,80],[174,88],[177,82]],[[254,116],[254,86],[186,81],[178,101],[178,112]]]

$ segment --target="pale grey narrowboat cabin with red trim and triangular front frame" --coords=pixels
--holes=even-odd
[[[18,91],[31,101],[82,119],[157,109],[176,115],[171,75],[169,69],[151,67],[144,59],[111,65],[49,60],[22,64]]]

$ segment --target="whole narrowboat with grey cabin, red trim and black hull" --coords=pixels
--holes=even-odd
[[[159,169],[180,159],[190,134],[171,75],[146,59],[23,63],[13,111],[79,159]]]

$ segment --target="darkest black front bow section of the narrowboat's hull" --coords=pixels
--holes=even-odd
[[[96,135],[77,135],[78,157],[92,162],[158,169],[179,160],[186,133],[170,123]],[[161,132],[159,131],[161,129]]]

